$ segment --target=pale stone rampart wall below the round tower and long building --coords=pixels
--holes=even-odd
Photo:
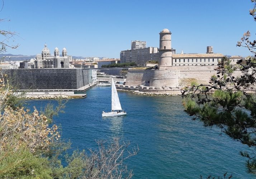
[[[196,81],[199,84],[209,84],[209,79],[216,71],[216,66],[170,66],[165,70],[136,70],[129,69],[126,85],[128,86],[152,86],[152,87],[182,87]],[[235,71],[234,76],[241,75]]]

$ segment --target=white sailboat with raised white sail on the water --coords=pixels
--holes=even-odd
[[[115,87],[114,79],[112,78],[112,112],[102,112],[102,116],[124,116],[126,115],[126,112],[122,110],[118,94],[117,94],[117,88]]]

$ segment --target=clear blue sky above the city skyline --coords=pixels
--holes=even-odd
[[[10,21],[0,29],[18,33],[9,40],[20,44],[11,54],[41,54],[46,43],[51,54],[65,47],[72,56],[120,58],[132,40],[159,47],[167,28],[176,53],[213,46],[214,53],[246,57],[252,54],[236,44],[247,30],[255,39],[252,8],[250,0],[4,0],[0,16]]]

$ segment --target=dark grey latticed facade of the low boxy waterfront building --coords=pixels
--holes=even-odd
[[[2,69],[17,89],[77,89],[84,86],[82,69]],[[85,84],[86,85],[86,84]]]

